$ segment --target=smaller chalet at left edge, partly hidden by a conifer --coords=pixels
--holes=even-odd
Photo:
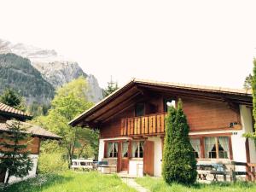
[[[44,130],[42,127],[38,125],[32,125],[25,122],[26,119],[32,119],[32,116],[24,113],[18,109],[9,107],[0,102],[0,142],[3,141],[4,133],[11,133],[9,131],[9,125],[12,124],[12,120],[16,119],[20,121],[20,126],[24,126],[27,128],[27,133],[31,135],[31,139],[29,144],[27,145],[26,150],[31,152],[30,156],[33,160],[33,168],[32,171],[29,172],[27,177],[34,177],[36,175],[37,166],[38,166],[38,155],[40,151],[40,141],[42,139],[55,139],[59,140],[61,137],[55,135],[52,132]],[[3,149],[3,148],[2,148]],[[4,149],[3,149],[4,150]],[[0,154],[1,158],[1,154]],[[0,173],[0,183],[4,182],[4,179],[8,173],[1,172]],[[19,181],[18,177],[10,177],[9,182]]]

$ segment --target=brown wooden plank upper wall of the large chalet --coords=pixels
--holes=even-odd
[[[146,102],[146,115],[149,114],[147,105],[154,105],[155,113],[164,113],[163,98],[168,96],[152,97]],[[169,96],[172,98],[172,96]],[[226,103],[191,97],[181,97],[183,110],[187,115],[190,131],[214,131],[230,129],[231,122],[240,123],[240,114],[228,108]],[[121,135],[121,119],[135,116],[135,105],[123,113],[101,125],[101,137],[119,137]]]

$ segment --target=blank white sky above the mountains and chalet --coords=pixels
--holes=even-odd
[[[110,76],[241,88],[256,56],[256,1],[0,0],[0,38],[55,49]]]

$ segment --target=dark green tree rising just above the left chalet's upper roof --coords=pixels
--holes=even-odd
[[[22,111],[26,110],[22,97],[12,89],[6,89],[3,91],[3,95],[0,96],[0,102]]]

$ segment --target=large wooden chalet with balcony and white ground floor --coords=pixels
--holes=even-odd
[[[178,98],[198,161],[256,163],[253,141],[242,137],[253,131],[250,90],[133,79],[70,125],[99,129],[98,159],[115,164],[117,172],[160,177],[165,116]]]

